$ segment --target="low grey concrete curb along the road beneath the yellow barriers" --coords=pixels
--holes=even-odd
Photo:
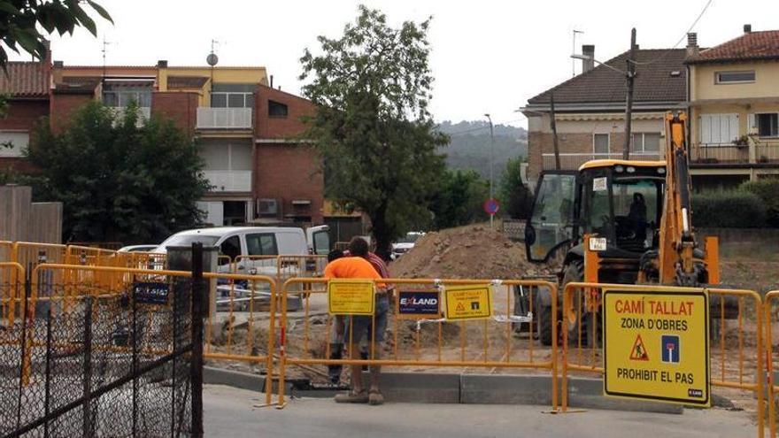
[[[265,377],[258,374],[205,366],[203,377],[205,383],[265,390]],[[364,381],[367,379],[365,373]],[[543,375],[382,373],[380,384],[388,402],[551,405],[551,377]],[[293,389],[292,383],[287,382],[285,392],[321,398],[335,396],[341,391]],[[603,380],[579,377],[568,378],[568,405],[576,409],[683,413],[682,405],[605,397]]]

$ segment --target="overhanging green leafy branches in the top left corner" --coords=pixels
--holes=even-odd
[[[92,0],[0,0],[0,67],[5,69],[9,48],[19,53],[19,47],[35,58],[46,58],[46,35],[73,35],[76,27],[86,27],[97,35],[95,20],[81,7],[89,6],[98,15],[113,23],[111,16]],[[40,29],[39,29],[40,27]]]

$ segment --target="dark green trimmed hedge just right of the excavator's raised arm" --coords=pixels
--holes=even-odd
[[[766,205],[746,190],[692,195],[692,225],[712,228],[766,227]]]

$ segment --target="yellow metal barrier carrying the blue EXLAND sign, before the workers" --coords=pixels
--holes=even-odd
[[[382,279],[375,283],[395,288],[398,294],[401,290],[437,292],[440,294],[439,300],[443,290],[448,287],[488,286],[493,312],[489,318],[450,321],[444,318],[443,309],[440,309],[438,315],[431,315],[428,319],[409,319],[400,311],[398,299],[389,312],[387,327],[391,334],[386,345],[376,342],[374,338],[366,343],[364,357],[357,357],[357,353],[350,350],[347,357],[338,358],[331,354],[333,350],[330,345],[331,328],[338,323],[336,318],[328,313],[315,314],[312,311],[314,302],[321,304],[327,301],[328,280],[287,280],[281,290],[278,307],[281,312],[278,377],[280,405],[284,404],[285,380],[289,372],[298,367],[381,365],[390,369],[427,367],[460,372],[468,369],[539,370],[551,377],[551,404],[557,407],[556,300],[551,300],[549,314],[544,315],[539,311],[536,319],[533,319],[533,305],[539,288],[545,288],[551,296],[556,296],[556,285],[540,280]],[[289,311],[287,299],[290,292],[297,291],[301,286],[305,291],[303,308],[293,314]],[[529,304],[529,308],[522,315],[515,315],[520,294],[527,294],[523,300]],[[536,324],[540,322],[539,318],[551,319],[551,348],[536,346]],[[297,327],[294,331],[293,325]],[[352,330],[351,323],[344,328],[344,342],[351,341]]]

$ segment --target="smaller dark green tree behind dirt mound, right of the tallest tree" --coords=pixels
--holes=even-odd
[[[482,205],[490,197],[489,182],[474,170],[447,170],[430,203],[433,228],[459,227],[486,220]]]

